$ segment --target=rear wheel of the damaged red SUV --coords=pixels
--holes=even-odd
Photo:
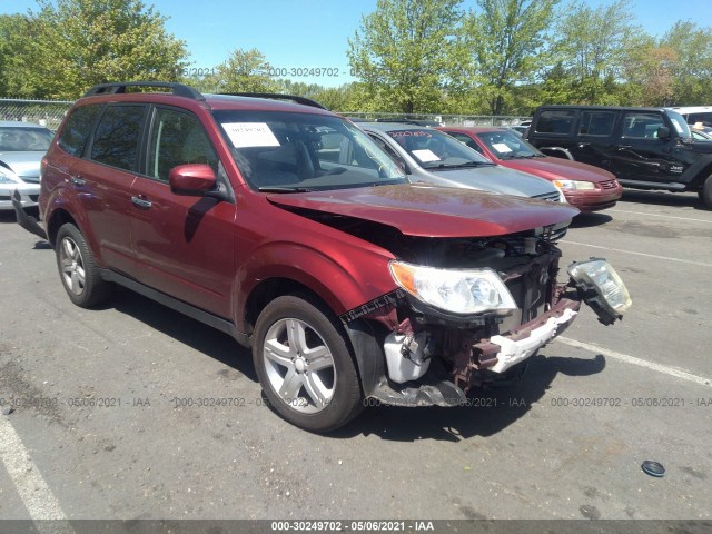
[[[82,308],[108,301],[113,294],[113,284],[101,279],[81,231],[67,222],[59,228],[55,243],[59,278],[69,299]]]

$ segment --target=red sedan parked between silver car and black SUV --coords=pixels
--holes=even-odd
[[[611,208],[623,194],[623,187],[611,172],[578,161],[546,156],[513,131],[492,127],[445,126],[437,129],[495,164],[553,181],[564,191],[566,201],[581,211]]]

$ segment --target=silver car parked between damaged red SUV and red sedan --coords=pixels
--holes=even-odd
[[[442,131],[396,122],[358,126],[408,174],[412,182],[565,201],[551,181],[495,165]]]

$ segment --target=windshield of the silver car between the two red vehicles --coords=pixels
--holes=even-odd
[[[424,169],[493,165],[472,148],[437,130],[393,130],[388,135]]]

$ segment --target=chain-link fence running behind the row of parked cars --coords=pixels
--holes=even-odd
[[[0,120],[21,120],[23,122],[37,122],[51,130],[59,127],[65,113],[72,102],[68,100],[19,100],[0,98]],[[434,126],[444,123],[447,126],[514,126],[530,117],[487,115],[435,115],[435,113],[380,113],[380,112],[345,112],[346,117],[360,120],[397,120],[414,121]]]

